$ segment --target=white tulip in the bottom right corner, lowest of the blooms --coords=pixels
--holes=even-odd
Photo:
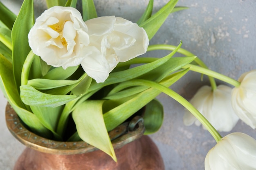
[[[222,138],[207,154],[205,170],[256,170],[256,141],[244,133]]]

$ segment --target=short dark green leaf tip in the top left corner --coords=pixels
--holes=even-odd
[[[13,23],[16,19],[16,15],[11,12],[7,7],[0,1],[0,20],[9,28],[12,29]]]

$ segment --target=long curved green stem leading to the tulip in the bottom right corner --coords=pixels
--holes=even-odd
[[[161,85],[159,83],[148,81],[148,80],[133,80],[131,81],[134,83],[134,85],[144,85],[148,87],[153,87],[156,89],[159,89],[161,92],[167,94],[177,102],[179,102],[181,105],[183,105],[189,112],[191,112],[201,123],[204,125],[204,127],[211,133],[213,138],[218,141],[222,139],[222,136],[218,133],[218,131],[211,125],[211,123],[191,104],[189,101],[187,101],[185,98],[174,92],[172,89],[169,89],[168,87]]]

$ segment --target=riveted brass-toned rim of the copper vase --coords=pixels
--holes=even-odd
[[[7,103],[5,109],[5,119],[7,128],[11,134],[18,139],[22,144],[28,148],[38,150],[40,152],[50,153],[50,154],[83,154],[87,152],[92,152],[99,150],[94,146],[84,142],[65,142],[65,141],[54,141],[46,139],[42,136],[39,136],[33,132],[30,132],[21,122],[20,118],[13,110],[11,105]],[[137,116],[132,121],[137,123],[137,126],[134,130],[128,130],[126,134],[119,136],[117,139],[114,139],[112,142],[113,148],[121,148],[122,146],[139,139],[143,136],[145,127],[143,121],[140,121],[141,117]],[[143,119],[142,119],[143,120]],[[119,125],[117,128],[110,132],[118,131],[122,125]]]

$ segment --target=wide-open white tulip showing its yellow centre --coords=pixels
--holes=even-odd
[[[72,7],[55,6],[36,19],[28,34],[29,46],[48,65],[77,66],[88,53],[88,28]]]

